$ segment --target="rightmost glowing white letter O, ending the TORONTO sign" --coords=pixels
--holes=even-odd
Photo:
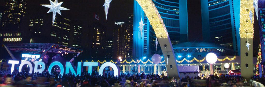
[[[114,76],[119,76],[120,75],[120,69],[119,67],[117,67],[114,63],[112,62],[105,62],[104,64],[102,64],[99,68],[99,75],[103,75],[103,70],[105,67],[112,67],[112,69],[114,70]]]

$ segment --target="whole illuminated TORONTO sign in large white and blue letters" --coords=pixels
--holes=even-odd
[[[19,64],[19,61],[8,60],[8,64],[12,64],[11,65],[11,73],[12,73],[14,71],[15,64]],[[35,61],[35,65],[34,65],[33,62],[31,62],[31,61],[24,61],[19,65],[19,71],[22,70],[22,67],[24,65],[29,65],[29,73],[43,72],[43,71],[47,70],[47,64],[45,62]],[[41,69],[38,69],[38,65],[41,65],[43,67],[41,67]],[[60,67],[60,69],[61,69],[60,74],[61,75],[69,73],[69,71],[71,71],[71,73],[74,75],[78,75],[78,74],[81,75],[81,72],[83,71],[83,66],[88,66],[88,72],[87,73],[91,74],[92,73],[92,66],[100,66],[100,65],[99,65],[99,62],[78,62],[77,63],[77,70],[76,70],[76,69],[74,69],[72,62],[66,62],[66,65],[64,66],[61,62],[54,61],[48,67],[48,71],[50,74],[52,71],[52,67],[54,67],[54,66]],[[117,65],[115,65],[112,62],[105,62],[104,64],[102,64],[101,67],[99,68],[99,75],[103,75],[104,68],[107,66],[112,67],[112,69],[114,70],[114,76],[120,75],[119,67],[117,67]]]

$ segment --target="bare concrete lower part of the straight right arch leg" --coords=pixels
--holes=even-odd
[[[246,47],[246,41],[249,41],[249,50]],[[253,38],[240,38],[240,48],[241,76],[245,79],[251,79],[251,76],[253,76]],[[246,53],[248,53],[248,56],[246,56]]]

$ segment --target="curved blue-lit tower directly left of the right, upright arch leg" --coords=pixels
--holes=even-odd
[[[239,0],[201,0],[203,41],[240,54]]]

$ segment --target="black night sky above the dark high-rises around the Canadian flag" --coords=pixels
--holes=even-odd
[[[54,0],[52,0],[54,1]],[[62,10],[62,17],[71,20],[81,20],[83,28],[87,29],[93,22],[100,22],[107,27],[107,32],[113,32],[113,25],[116,20],[128,19],[128,13],[133,14],[133,0],[112,0],[110,3],[107,21],[105,21],[104,0],[58,0],[63,2],[62,7],[70,10]],[[40,4],[50,4],[49,0],[28,0],[27,11],[28,15],[48,15],[49,8],[43,7]],[[0,0],[0,5],[5,6],[5,0]],[[94,18],[94,13],[100,17],[100,20]],[[56,14],[56,17],[60,14]],[[113,33],[107,33],[107,36]]]

